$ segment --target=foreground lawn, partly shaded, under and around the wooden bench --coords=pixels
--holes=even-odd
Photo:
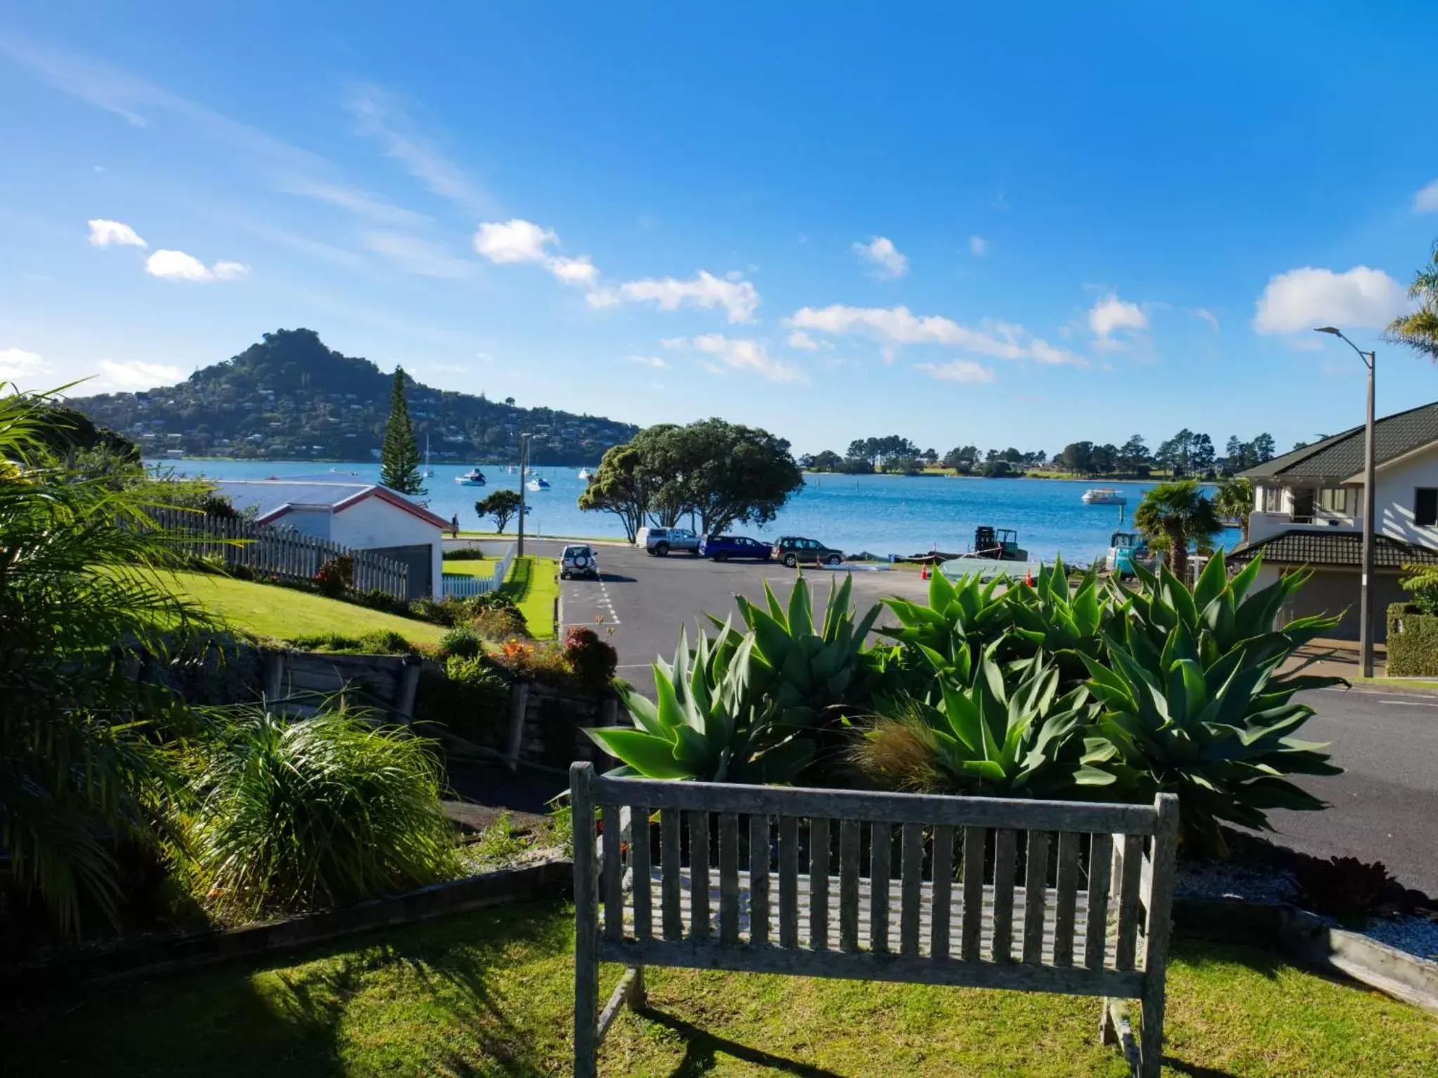
[[[572,910],[512,906],[0,1019],[7,1074],[562,1075]],[[607,996],[620,975],[604,967]],[[651,969],[607,1075],[1119,1075],[1099,1002]],[[1431,1075],[1438,1021],[1244,947],[1183,943],[1166,1074]]]

